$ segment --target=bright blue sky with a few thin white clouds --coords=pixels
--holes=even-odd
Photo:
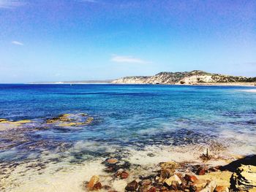
[[[256,76],[256,1],[0,0],[0,82]]]

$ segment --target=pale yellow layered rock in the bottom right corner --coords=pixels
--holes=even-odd
[[[256,191],[256,166],[241,165],[230,178],[234,191]]]

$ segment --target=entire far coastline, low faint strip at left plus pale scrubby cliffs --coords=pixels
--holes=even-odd
[[[255,86],[256,77],[212,74],[200,70],[192,72],[160,72],[153,76],[121,77],[116,80],[81,80],[60,82],[29,82],[28,84],[140,84],[140,85],[223,85]]]

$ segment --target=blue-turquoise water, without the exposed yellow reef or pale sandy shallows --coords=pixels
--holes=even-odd
[[[178,85],[0,85],[0,118],[32,120],[0,129],[0,161],[37,158],[45,150],[63,153],[78,142],[143,148],[243,142],[255,147],[255,88]],[[86,113],[94,120],[80,126],[46,126],[61,114]],[[228,133],[229,136],[225,136]],[[234,136],[244,136],[242,139]],[[184,139],[186,138],[186,139]],[[238,139],[238,140],[237,140]],[[247,142],[247,143],[246,143]],[[31,156],[31,153],[33,155]],[[108,155],[102,147],[72,153]],[[70,155],[70,153],[69,153]]]

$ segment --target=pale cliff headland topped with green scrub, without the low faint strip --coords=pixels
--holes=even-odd
[[[117,84],[172,84],[172,85],[211,85],[247,83],[254,85],[256,77],[230,76],[225,74],[212,74],[195,70],[192,72],[160,72],[153,76],[122,77],[113,80]]]

